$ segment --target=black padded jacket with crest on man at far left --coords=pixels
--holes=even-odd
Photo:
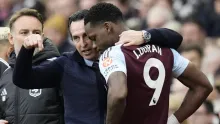
[[[58,50],[45,39],[44,50],[33,56],[33,65],[42,65],[57,56]],[[0,80],[0,119],[10,124],[63,124],[63,99],[59,88],[26,90],[16,87],[12,82],[15,58],[12,54],[11,68]]]

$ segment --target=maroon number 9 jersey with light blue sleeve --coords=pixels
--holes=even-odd
[[[121,124],[167,123],[173,51],[149,44],[114,46],[101,56],[99,66],[106,81],[115,71],[127,75],[127,104]],[[183,69],[177,70],[178,76]]]

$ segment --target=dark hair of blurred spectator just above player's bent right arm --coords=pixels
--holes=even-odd
[[[197,44],[192,44],[192,45],[187,45],[185,47],[183,47],[180,52],[189,52],[189,51],[192,51],[192,50],[195,50],[199,56],[202,58],[204,53],[203,53],[203,49],[202,47],[200,47],[199,45]]]

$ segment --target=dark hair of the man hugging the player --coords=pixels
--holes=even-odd
[[[88,13],[89,13],[89,10],[86,10],[86,9],[80,10],[80,11],[77,11],[77,12],[73,13],[69,17],[68,27],[70,28],[70,25],[71,25],[72,22],[83,20]]]

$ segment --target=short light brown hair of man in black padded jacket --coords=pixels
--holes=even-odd
[[[29,9],[29,8],[24,8],[24,9],[21,9],[20,11],[17,11],[16,13],[14,13],[10,20],[9,20],[9,28],[10,30],[12,30],[12,27],[13,27],[13,24],[14,22],[20,18],[21,16],[32,16],[32,17],[35,17],[36,19],[38,19],[41,24],[42,24],[42,28],[43,28],[43,17],[42,15],[35,9]]]

